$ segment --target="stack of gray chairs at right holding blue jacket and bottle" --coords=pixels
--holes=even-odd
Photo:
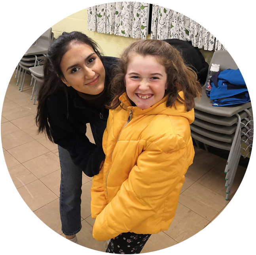
[[[226,69],[241,69],[243,64],[230,51],[215,51],[209,65],[220,64],[220,71]],[[229,156],[224,173],[226,174],[226,200],[228,200],[239,160],[241,158],[241,144],[247,144],[245,151],[252,150],[253,120],[250,110],[252,103],[233,106],[212,106],[213,100],[205,93],[203,86],[201,100],[195,100],[195,121],[190,125],[191,136],[197,147],[202,142],[208,152],[207,145],[228,150]],[[248,150],[247,150],[248,149]],[[247,155],[249,154],[247,153]],[[243,157],[247,157],[243,155]]]

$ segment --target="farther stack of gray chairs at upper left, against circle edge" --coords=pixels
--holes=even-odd
[[[18,79],[17,79],[17,85],[19,83],[19,77],[20,77],[20,73],[21,73],[21,69],[22,69],[21,80],[20,80],[20,84],[19,84],[19,90],[21,89],[21,92],[23,90],[25,76],[26,76],[27,72],[30,72],[29,68],[44,64],[44,59],[46,57],[46,53],[48,51],[48,48],[51,45],[51,43],[53,42],[53,40],[55,39],[54,34],[51,31],[52,31],[51,28],[47,29],[36,40],[36,42],[34,42],[28,48],[28,50],[23,55],[23,57],[21,58],[21,60],[19,61],[18,65],[17,65],[17,70],[16,70],[16,74],[15,74],[15,78],[16,78],[17,77],[17,71],[18,71],[18,68],[19,68],[19,75],[18,75]],[[24,73],[24,77],[23,77],[24,70],[25,70],[25,73]],[[30,86],[32,85],[33,78],[34,77],[32,76]],[[34,85],[35,85],[35,82],[34,82]],[[34,91],[34,89],[35,88],[33,87],[33,91]],[[32,96],[33,96],[33,94],[32,94]]]

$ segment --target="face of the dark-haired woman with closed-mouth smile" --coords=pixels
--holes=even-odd
[[[101,59],[87,44],[73,43],[63,55],[63,83],[85,94],[97,95],[104,89],[105,69]]]

